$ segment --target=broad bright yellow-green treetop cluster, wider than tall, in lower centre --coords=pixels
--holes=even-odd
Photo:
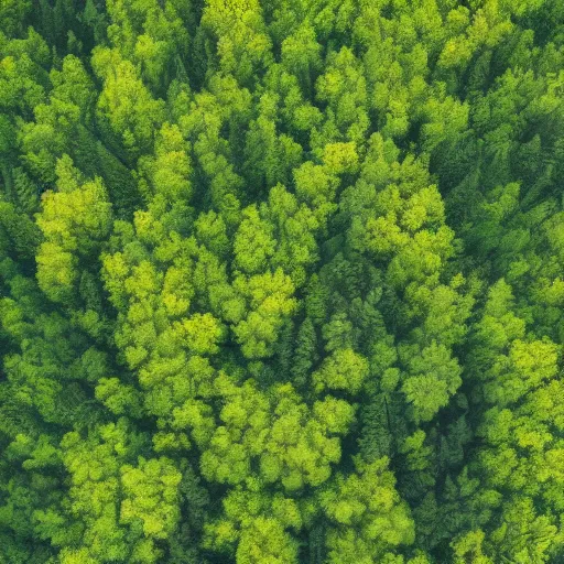
[[[269,401],[248,382],[242,388],[219,380],[227,394],[220,412],[221,425],[213,434],[209,424],[188,405],[176,417],[194,425],[194,438],[202,444],[202,471],[208,480],[241,484],[258,474],[267,484],[279,482],[286,491],[306,485],[318,486],[330,476],[330,465],[340,459],[338,436],[354,420],[354,410],[343,400],[327,398],[313,410],[299,402],[290,384],[278,387]],[[193,422],[188,420],[192,413]]]

